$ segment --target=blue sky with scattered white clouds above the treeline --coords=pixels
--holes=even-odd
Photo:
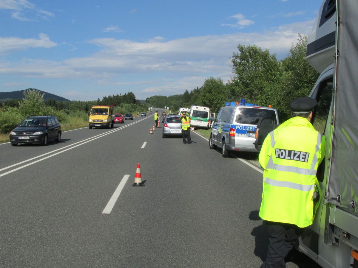
[[[0,91],[183,94],[233,76],[237,44],[283,59],[321,0],[0,0]]]

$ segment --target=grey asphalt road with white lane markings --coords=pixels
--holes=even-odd
[[[0,267],[260,267],[262,170],[153,124],[1,144]],[[144,187],[131,186],[137,163]],[[317,267],[299,260],[287,267]]]

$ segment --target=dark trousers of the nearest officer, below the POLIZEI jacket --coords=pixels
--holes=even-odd
[[[304,228],[295,224],[263,221],[269,233],[269,248],[267,260],[260,268],[285,268],[285,257],[292,249],[296,240],[303,233]]]

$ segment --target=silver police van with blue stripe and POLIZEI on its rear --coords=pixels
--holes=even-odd
[[[258,120],[272,117],[279,124],[277,110],[241,102],[228,102],[214,120],[209,148],[222,148],[222,156],[229,157],[230,151],[259,153],[255,148],[255,133]]]

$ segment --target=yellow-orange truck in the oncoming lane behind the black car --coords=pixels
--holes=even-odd
[[[113,128],[113,105],[94,105],[91,108],[91,111],[88,113],[88,127],[89,129],[104,127],[104,128]]]

